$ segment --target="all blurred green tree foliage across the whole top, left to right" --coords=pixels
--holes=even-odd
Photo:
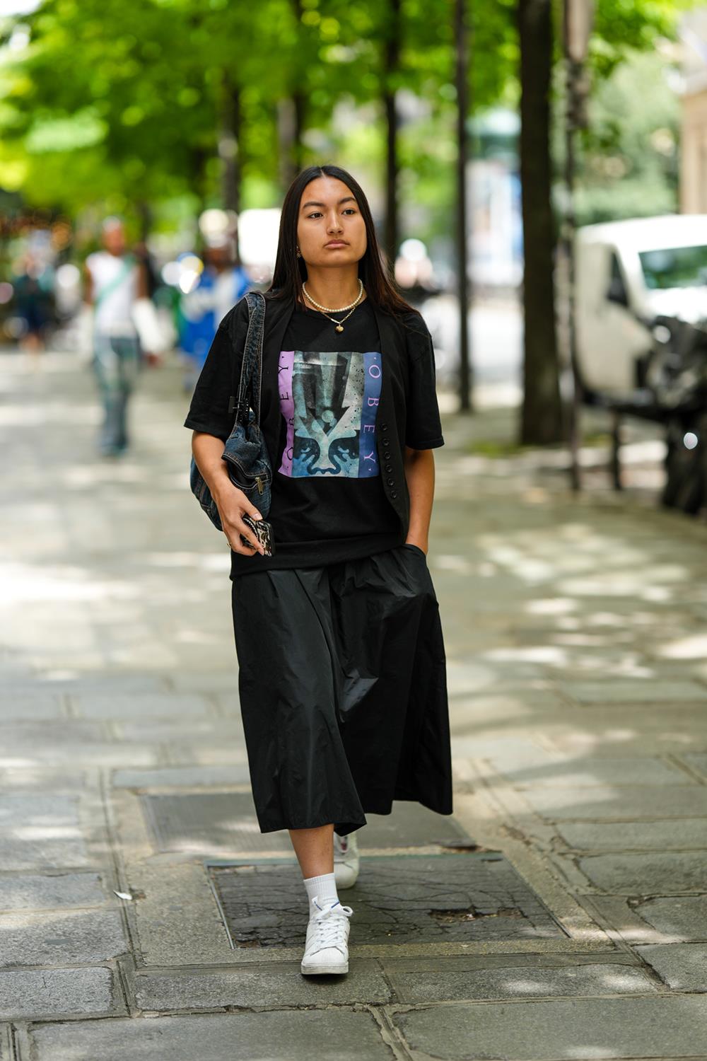
[[[470,4],[472,111],[517,103],[515,6],[515,0]],[[626,70],[633,69],[636,50],[650,51],[660,37],[674,35],[678,7],[674,0],[598,2],[589,54],[598,104],[587,179],[597,184],[603,155],[620,156],[622,163],[607,163],[587,215],[605,209],[602,196],[608,201],[620,164],[626,167],[623,180],[646,180],[655,189],[651,203],[662,202],[665,180],[674,185],[667,156],[654,159],[653,169],[638,158],[643,133],[650,140],[654,131],[642,119],[634,122],[642,103],[632,100],[620,65],[629,59]],[[381,182],[381,101],[392,88],[403,90],[401,204],[414,203],[416,226],[425,226],[419,234],[448,232],[456,153],[453,4],[402,0],[397,65],[386,75],[390,11],[389,0],[43,0],[32,15],[0,22],[2,40],[15,23],[30,31],[28,48],[4,48],[0,59],[0,185],[70,215],[92,203],[124,209],[136,197],[216,205],[228,93],[238,102],[243,206],[272,205],[293,166],[322,159],[363,169]],[[660,82],[652,80],[648,94],[660,92]],[[669,99],[666,91],[662,100]],[[642,106],[644,117],[660,109],[654,102]],[[283,133],[283,118],[295,105],[299,144]],[[674,120],[666,116],[658,127],[673,129]],[[667,141],[657,136],[654,142],[659,155]],[[283,157],[288,154],[289,160]]]

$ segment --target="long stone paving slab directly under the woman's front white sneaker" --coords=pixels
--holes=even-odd
[[[390,987],[378,963],[366,958],[350,960],[346,976],[302,976],[299,958],[265,968],[249,966],[228,971],[184,970],[179,973],[151,971],[135,977],[132,990],[138,1007],[148,1012],[220,1006],[378,1005],[391,998]]]

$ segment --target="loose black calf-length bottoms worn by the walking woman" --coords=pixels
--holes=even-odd
[[[262,833],[346,836],[393,800],[452,814],[444,642],[419,546],[249,572],[232,607]]]

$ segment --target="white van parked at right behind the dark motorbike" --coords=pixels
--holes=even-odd
[[[658,315],[707,319],[707,214],[586,225],[575,242],[577,358],[585,390],[642,386]]]

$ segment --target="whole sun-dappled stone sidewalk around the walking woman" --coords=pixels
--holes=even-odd
[[[351,971],[313,979],[178,367],[111,463],[85,366],[0,361],[0,1061],[707,1057],[707,527],[650,440],[573,499],[556,454],[474,452],[508,414],[445,415],[455,813],[369,816]]]

